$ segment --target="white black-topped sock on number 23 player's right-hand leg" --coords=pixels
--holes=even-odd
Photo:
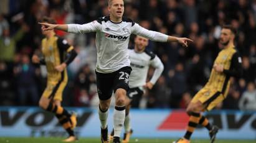
[[[114,137],[120,137],[125,122],[125,106],[115,106],[114,110]]]

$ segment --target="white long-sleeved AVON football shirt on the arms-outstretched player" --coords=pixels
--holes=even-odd
[[[68,32],[96,32],[96,71],[100,73],[112,73],[130,66],[128,44],[131,34],[158,42],[166,42],[168,39],[168,35],[147,30],[125,17],[118,23],[110,21],[110,16],[105,16],[83,25],[68,24]]]

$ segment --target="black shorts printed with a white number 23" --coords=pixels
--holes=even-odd
[[[107,100],[118,88],[126,91],[129,90],[129,76],[131,67],[123,67],[113,73],[98,73],[96,72],[98,98],[100,100]]]

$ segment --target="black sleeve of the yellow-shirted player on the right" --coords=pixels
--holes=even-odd
[[[242,76],[242,58],[238,52],[233,54],[229,70],[224,70],[223,72],[225,75],[234,76],[235,78],[240,78]]]

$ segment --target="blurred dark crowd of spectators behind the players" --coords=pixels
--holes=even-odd
[[[39,101],[47,73],[31,57],[40,53],[37,22],[43,16],[58,24],[84,24],[107,15],[107,0],[1,0],[0,105],[36,106]],[[256,110],[256,0],[125,0],[125,16],[147,29],[194,40],[188,48],[149,42],[147,48],[161,58],[164,72],[153,90],[146,91],[140,108],[186,108],[209,78],[220,50],[221,25],[231,24],[239,30],[235,45],[244,75],[232,78],[229,96],[217,109]],[[64,106],[97,104],[95,34],[56,32],[78,52],[68,68]]]

